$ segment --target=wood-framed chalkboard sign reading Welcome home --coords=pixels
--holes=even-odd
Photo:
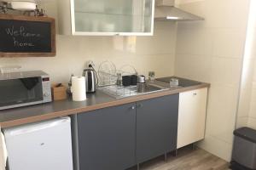
[[[0,57],[54,55],[54,19],[0,14]]]

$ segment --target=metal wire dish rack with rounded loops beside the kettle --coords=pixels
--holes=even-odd
[[[116,85],[118,73],[122,76],[126,76],[137,74],[137,71],[132,65],[123,65],[119,70],[117,70],[113,62],[104,61],[99,65],[99,69],[97,71],[98,87]]]

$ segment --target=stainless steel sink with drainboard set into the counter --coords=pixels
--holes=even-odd
[[[160,91],[168,90],[169,88],[164,88],[158,85],[146,83],[144,85],[143,90],[140,92],[137,91],[137,86],[124,87],[124,86],[111,85],[111,86],[100,87],[98,89],[101,90],[103,93],[108,94],[116,99],[122,99],[122,98],[131,97],[135,95],[160,92]]]

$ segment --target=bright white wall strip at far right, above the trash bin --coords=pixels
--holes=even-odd
[[[256,1],[251,1],[237,127],[256,129]]]

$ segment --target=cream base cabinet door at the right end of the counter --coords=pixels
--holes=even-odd
[[[177,149],[205,137],[207,88],[179,94]]]

